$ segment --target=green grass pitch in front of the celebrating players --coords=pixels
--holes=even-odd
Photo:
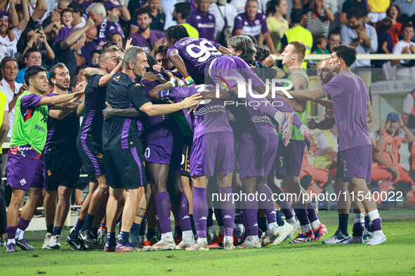
[[[350,214],[349,230],[353,223]],[[330,237],[337,227],[336,211],[319,213]],[[415,275],[415,210],[383,210],[385,244],[288,244],[261,249],[206,252],[159,251],[105,253],[72,251],[62,242],[61,250],[41,250],[44,231],[25,233],[36,251],[6,254],[0,249],[0,275]],[[69,233],[62,232],[62,240]]]

